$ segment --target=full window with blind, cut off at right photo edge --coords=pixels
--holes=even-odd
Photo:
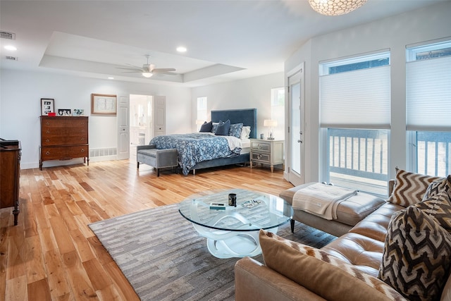
[[[407,139],[411,169],[451,174],[451,41],[406,50]]]

